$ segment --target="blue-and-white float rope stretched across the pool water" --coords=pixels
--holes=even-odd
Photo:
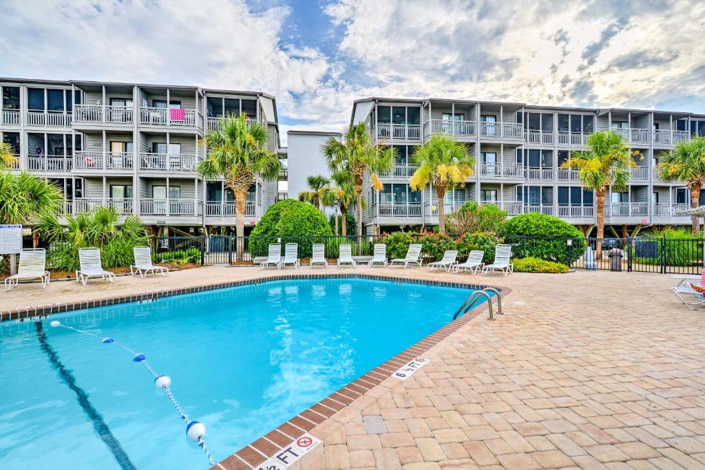
[[[37,325],[41,325],[41,323],[37,323]],[[176,412],[178,413],[180,419],[182,419],[185,423],[186,435],[188,436],[188,438],[198,443],[198,446],[201,447],[203,452],[206,454],[209,464],[218,464],[218,462],[216,462],[216,460],[212,457],[211,453],[209,452],[208,447],[206,446],[206,441],[204,440],[204,435],[206,434],[206,426],[204,426],[203,423],[192,420],[188,417],[188,414],[181,407],[178,400],[176,400],[176,397],[174,397],[173,392],[171,392],[171,377],[161,376],[157,372],[155,372],[154,369],[152,369],[152,366],[150,366],[147,362],[147,357],[145,357],[145,354],[142,354],[141,352],[134,352],[133,350],[130,350],[129,347],[122,345],[113,338],[103,338],[102,336],[94,335],[93,333],[90,333],[88,331],[73,328],[73,326],[62,325],[61,322],[57,320],[52,321],[51,323],[49,323],[49,325],[54,328],[66,328],[67,330],[72,330],[76,333],[81,333],[82,335],[92,336],[92,338],[96,338],[97,340],[100,340],[106,345],[115,345],[121,350],[130,354],[130,356],[132,356],[133,358],[133,362],[137,362],[139,364],[142,364],[142,366],[145,366],[145,369],[147,369],[147,371],[152,374],[152,377],[154,377],[154,386],[161,390],[164,390],[169,402],[171,402],[171,405],[174,407],[174,409],[176,409]],[[39,327],[37,327],[37,329],[39,329]],[[46,333],[44,333],[44,338],[46,338]]]

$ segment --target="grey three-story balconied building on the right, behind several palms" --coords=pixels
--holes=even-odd
[[[510,216],[541,212],[558,216],[585,233],[594,227],[595,200],[577,179],[577,170],[561,168],[574,151],[584,149],[592,132],[613,130],[624,136],[632,151],[625,192],[610,190],[606,225],[624,233],[636,225],[687,225],[676,216],[687,209],[690,194],[683,182],[665,183],[656,165],[664,152],[692,135],[705,134],[705,116],[684,112],[639,109],[587,109],[529,106],[524,103],[452,99],[368,98],[355,101],[350,122],[367,123],[377,142],[396,147],[398,161],[381,175],[384,190],[365,188],[364,224],[372,230],[434,225],[439,204],[446,214],[467,201],[497,204]],[[463,187],[436,200],[426,187],[411,190],[416,171],[410,156],[431,135],[448,135],[467,145],[477,161],[474,175]],[[705,194],[704,194],[705,195]]]

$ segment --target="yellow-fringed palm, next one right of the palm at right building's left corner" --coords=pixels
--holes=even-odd
[[[465,184],[472,176],[475,159],[467,147],[443,135],[433,135],[431,140],[418,147],[411,161],[419,169],[409,179],[412,190],[423,190],[431,183],[439,200],[439,231],[446,233],[446,207],[443,199],[446,191],[456,185]]]

